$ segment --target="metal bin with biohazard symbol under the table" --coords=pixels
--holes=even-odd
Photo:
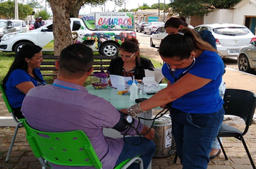
[[[152,128],[155,129],[155,137],[153,139],[156,150],[153,158],[166,158],[175,151],[173,148],[173,135],[172,135],[172,122],[168,115],[164,115],[159,119],[155,120]]]

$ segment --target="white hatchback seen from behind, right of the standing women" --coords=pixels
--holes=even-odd
[[[207,29],[214,35],[221,57],[237,57],[239,49],[256,41],[250,29],[239,24],[202,24],[196,26],[195,29],[197,31]]]

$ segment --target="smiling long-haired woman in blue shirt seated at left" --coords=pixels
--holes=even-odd
[[[9,103],[14,108],[14,115],[18,119],[24,118],[20,109],[27,92],[33,87],[46,84],[39,69],[43,61],[41,50],[42,48],[35,44],[25,44],[17,53],[9,72],[1,82],[5,87]]]

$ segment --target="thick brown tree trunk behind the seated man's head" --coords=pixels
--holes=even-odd
[[[54,54],[60,56],[60,52],[72,44],[70,29],[70,11],[78,0],[49,0],[52,8],[52,31],[54,37]]]

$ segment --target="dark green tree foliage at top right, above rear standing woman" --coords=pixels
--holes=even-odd
[[[214,9],[229,9],[241,0],[173,0],[170,3],[170,15],[203,17]]]

